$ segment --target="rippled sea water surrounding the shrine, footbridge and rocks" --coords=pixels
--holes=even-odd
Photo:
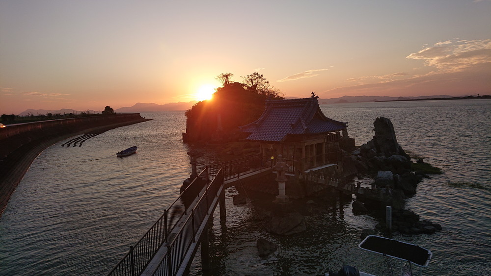
[[[394,124],[398,142],[443,169],[421,182],[408,208],[440,223],[434,235],[396,239],[434,254],[426,275],[490,275],[491,101],[448,100],[323,105],[327,117],[348,122],[361,145],[375,118]],[[0,219],[0,275],[104,275],[162,215],[190,174],[181,141],[184,112],[142,114],[154,120],[95,136],[82,147],[61,141],[34,161]],[[116,151],[138,146],[117,158]],[[203,162],[213,160],[207,152]],[[478,188],[475,188],[478,186]],[[227,222],[215,216],[212,243],[216,275],[323,275],[343,264],[388,275],[382,257],[357,248],[361,229],[377,221],[320,211],[305,217],[308,230],[293,237],[269,234],[249,205],[234,206],[227,190]],[[279,245],[266,259],[257,238]],[[199,251],[191,274],[201,275]]]

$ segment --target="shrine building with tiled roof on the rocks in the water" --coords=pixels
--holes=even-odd
[[[295,170],[317,170],[340,164],[341,150],[355,147],[347,123],[327,118],[319,96],[293,100],[267,100],[263,114],[240,130],[246,140],[259,142],[262,156],[279,154]]]

